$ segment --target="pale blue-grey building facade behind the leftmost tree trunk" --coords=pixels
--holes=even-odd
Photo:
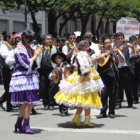
[[[36,14],[36,20],[41,27],[41,35],[46,32],[45,26],[45,12],[38,12]],[[30,14],[27,15],[27,29],[32,30],[32,19]],[[0,8],[0,33],[6,31],[8,33],[21,32],[25,30],[25,16],[24,10],[21,8],[19,10],[11,9],[3,12]]]

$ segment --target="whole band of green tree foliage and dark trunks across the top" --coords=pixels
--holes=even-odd
[[[75,14],[81,19],[82,32],[85,31],[90,15],[100,15],[97,30],[103,18],[108,21],[117,21],[120,17],[140,18],[140,0],[0,0],[0,5],[4,11],[11,8],[19,9],[25,5],[25,1],[24,8],[31,13],[34,30],[38,29],[35,14],[38,11],[46,11],[54,16],[51,21],[54,22],[54,26],[60,17],[64,18],[60,25],[60,34],[64,25]],[[55,27],[52,26],[53,29]]]

